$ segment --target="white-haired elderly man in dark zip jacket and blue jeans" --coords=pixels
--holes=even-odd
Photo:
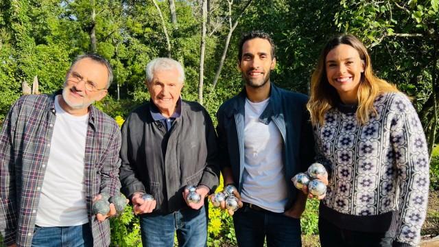
[[[181,99],[185,73],[180,62],[156,58],[147,64],[151,100],[122,126],[122,192],[139,213],[143,246],[206,246],[207,194],[218,184],[215,129],[198,103]],[[198,203],[187,202],[187,185]],[[150,193],[154,200],[143,200]]]

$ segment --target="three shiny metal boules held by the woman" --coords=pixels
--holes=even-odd
[[[327,193],[327,185],[325,185],[318,176],[325,176],[327,170],[320,163],[313,163],[309,166],[307,173],[300,172],[292,178],[294,186],[297,189],[302,189],[307,186],[309,193],[313,196],[322,196]]]

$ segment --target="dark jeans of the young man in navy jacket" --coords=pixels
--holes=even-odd
[[[283,213],[257,211],[244,206],[233,215],[233,223],[240,247],[263,246],[265,237],[268,247],[302,246],[300,220]]]

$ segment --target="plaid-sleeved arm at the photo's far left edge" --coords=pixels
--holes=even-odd
[[[0,233],[6,246],[16,239],[15,161],[12,137],[18,117],[17,102],[10,109],[0,132]]]

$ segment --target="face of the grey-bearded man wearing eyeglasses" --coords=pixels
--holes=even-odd
[[[85,115],[88,106],[105,97],[107,82],[108,70],[104,64],[91,58],[78,60],[71,67],[64,82],[61,107],[71,115]],[[93,84],[100,90],[88,91],[85,84]]]

